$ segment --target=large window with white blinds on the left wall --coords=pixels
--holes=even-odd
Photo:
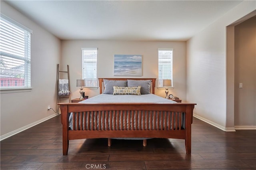
[[[31,30],[1,14],[0,88],[30,88]]]

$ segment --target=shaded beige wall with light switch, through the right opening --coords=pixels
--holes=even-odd
[[[235,126],[256,126],[256,17],[235,26]],[[243,83],[243,88],[239,88]]]

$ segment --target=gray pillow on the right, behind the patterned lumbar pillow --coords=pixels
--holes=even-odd
[[[127,80],[128,87],[141,86],[140,93],[142,95],[150,94],[151,80]]]

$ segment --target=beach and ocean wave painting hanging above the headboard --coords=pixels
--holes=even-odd
[[[114,55],[114,75],[142,76],[142,55]]]

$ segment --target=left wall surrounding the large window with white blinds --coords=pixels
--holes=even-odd
[[[60,62],[58,38],[1,1],[1,13],[30,28],[31,85],[30,92],[2,93],[0,96],[1,140],[56,115],[56,65]]]

